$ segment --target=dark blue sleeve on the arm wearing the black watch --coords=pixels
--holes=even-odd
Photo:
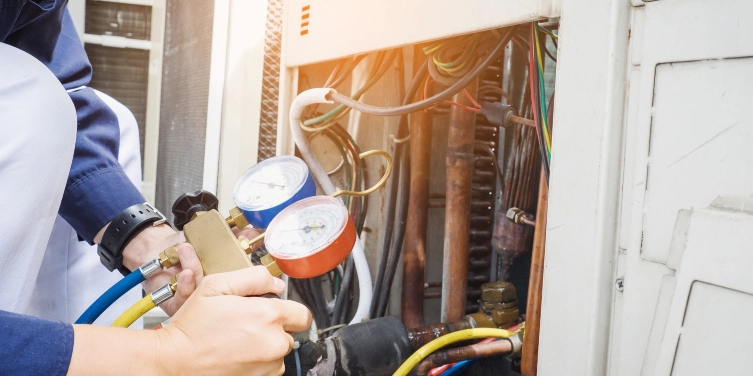
[[[116,215],[145,200],[118,163],[117,116],[86,87],[92,67],[66,3],[0,1],[0,42],[37,58],[70,93],[78,115],[78,132],[60,215],[91,243]]]

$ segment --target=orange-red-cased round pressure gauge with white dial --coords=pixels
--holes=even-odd
[[[283,209],[267,227],[264,245],[283,273],[311,278],[334,269],[355,241],[356,228],[342,201],[314,196]]]

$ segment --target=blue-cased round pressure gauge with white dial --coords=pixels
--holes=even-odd
[[[249,168],[235,184],[233,199],[248,223],[266,228],[282,209],[315,194],[316,185],[306,163],[283,155]]]

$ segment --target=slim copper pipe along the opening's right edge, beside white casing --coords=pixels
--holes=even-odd
[[[531,276],[528,279],[528,305],[526,306],[526,335],[523,340],[523,359],[520,369],[523,376],[536,376],[539,363],[539,329],[541,325],[541,294],[544,287],[544,243],[546,242],[546,209],[549,189],[544,170],[539,178],[539,203],[536,207],[536,227],[533,233]]]

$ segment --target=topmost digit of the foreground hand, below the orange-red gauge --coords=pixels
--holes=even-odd
[[[234,270],[205,276],[197,293],[201,296],[237,295],[259,296],[280,294],[285,282],[273,277],[263,266]]]

